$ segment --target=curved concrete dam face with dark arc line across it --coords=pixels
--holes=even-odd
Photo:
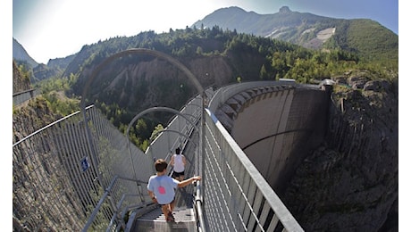
[[[298,165],[323,142],[329,99],[320,88],[260,87],[233,95],[215,115],[281,195]]]

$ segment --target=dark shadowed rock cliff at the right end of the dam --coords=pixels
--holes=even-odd
[[[398,83],[336,82],[326,141],[284,203],[306,231],[398,231]]]

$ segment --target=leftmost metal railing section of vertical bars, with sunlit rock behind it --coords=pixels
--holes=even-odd
[[[80,230],[87,205],[96,203],[95,170],[81,167],[88,161],[78,116],[57,120],[13,145],[13,221],[21,230]]]

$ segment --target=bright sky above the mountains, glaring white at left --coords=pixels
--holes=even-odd
[[[398,34],[398,0],[13,0],[13,37],[36,61],[62,58],[116,36],[185,29],[222,7],[260,14],[311,12],[341,19],[371,19]]]

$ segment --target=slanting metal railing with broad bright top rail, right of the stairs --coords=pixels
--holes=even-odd
[[[203,189],[209,231],[304,231],[213,112],[206,115]]]

